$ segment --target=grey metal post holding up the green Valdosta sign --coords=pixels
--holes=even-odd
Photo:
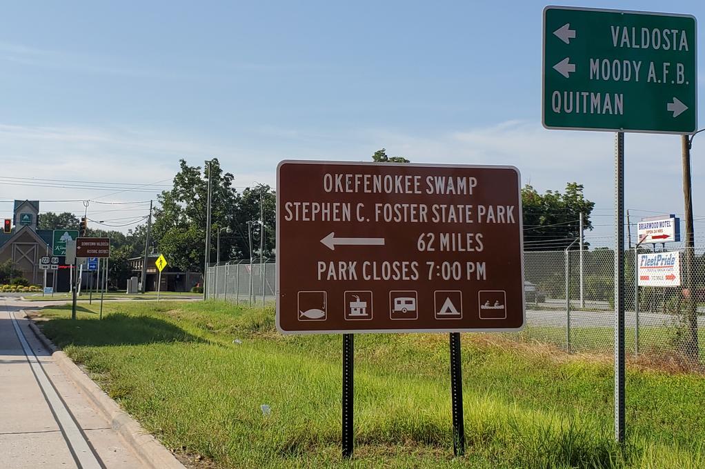
[[[625,435],[624,133],[615,135],[615,439]]]

